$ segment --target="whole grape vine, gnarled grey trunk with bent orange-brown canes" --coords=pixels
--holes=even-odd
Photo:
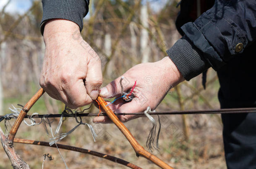
[[[20,142],[20,143],[40,145],[39,144],[40,141],[31,141],[31,140],[27,140],[26,141],[26,140],[21,140],[21,139],[14,139],[14,138],[15,138],[15,135],[16,135],[16,133],[18,131],[18,128],[21,125],[21,122],[23,121],[24,117],[26,116],[26,114],[28,113],[30,108],[34,105],[34,103],[36,103],[37,100],[43,94],[44,94],[44,90],[42,88],[40,88],[39,91],[37,91],[37,93],[29,100],[29,102],[26,103],[26,105],[22,108],[21,113],[18,115],[18,118],[16,119],[15,123],[13,124],[13,126],[12,126],[12,128],[11,128],[7,138],[4,136],[3,131],[0,129],[0,136],[1,136],[1,142],[2,142],[3,148],[4,148],[5,152],[6,152],[6,154],[8,155],[8,157],[9,157],[9,159],[10,159],[14,169],[21,169],[21,168],[28,169],[29,166],[14,151],[14,149],[13,149],[13,141]],[[161,167],[162,169],[173,169],[171,166],[166,164],[164,161],[159,159],[157,156],[154,156],[153,154],[149,153],[140,144],[138,144],[138,142],[133,137],[131,132],[118,119],[118,117],[113,113],[113,111],[110,109],[110,107],[107,106],[107,103],[104,101],[103,98],[98,97],[96,101],[99,103],[99,106],[102,108],[102,110],[105,111],[107,116],[112,120],[112,122],[125,135],[126,139],[128,139],[128,141],[130,142],[131,146],[135,150],[137,156],[143,156],[144,158],[152,161],[154,164],[156,164],[157,166]],[[41,143],[43,143],[43,142],[41,142]],[[47,144],[44,144],[44,146],[47,146]],[[65,146],[66,146],[66,148],[68,147],[67,145],[64,145],[64,149],[65,149]],[[69,147],[69,148],[71,148],[71,147]],[[88,152],[88,151],[86,151],[86,152]],[[90,153],[87,153],[87,154],[90,154]],[[98,154],[98,156],[104,158],[103,156],[101,156],[99,154]],[[106,157],[107,155],[104,155],[104,156]],[[116,158],[116,157],[113,157],[113,158]],[[118,159],[118,158],[116,158],[116,159]],[[111,159],[109,159],[109,160],[111,160]],[[120,159],[120,160],[122,160],[122,159]],[[127,161],[123,160],[123,161],[121,161],[120,164],[122,164],[122,163],[123,163],[123,165],[126,165],[126,166],[128,166],[130,168],[140,169],[140,167],[135,166],[134,164],[128,163]]]

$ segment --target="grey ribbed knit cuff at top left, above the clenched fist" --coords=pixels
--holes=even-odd
[[[89,0],[42,0],[43,17],[41,33],[44,34],[44,25],[49,19],[66,19],[76,23],[80,31],[83,29],[83,18],[88,13]]]

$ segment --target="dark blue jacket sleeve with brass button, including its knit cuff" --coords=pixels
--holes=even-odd
[[[181,29],[185,33],[185,39],[192,43],[193,49],[200,52],[192,57],[187,47],[178,41],[174,47],[184,48],[182,57],[190,62],[195,61],[196,63],[193,64],[197,65],[197,70],[188,71],[191,69],[190,62],[181,64],[175,61],[180,59],[176,58],[172,48],[167,50],[167,53],[172,61],[177,63],[175,65],[185,79],[190,80],[204,71],[207,64],[218,70],[235,55],[243,53],[243,50],[255,41],[256,1],[215,0],[211,9],[203,13],[194,23],[186,23]]]

